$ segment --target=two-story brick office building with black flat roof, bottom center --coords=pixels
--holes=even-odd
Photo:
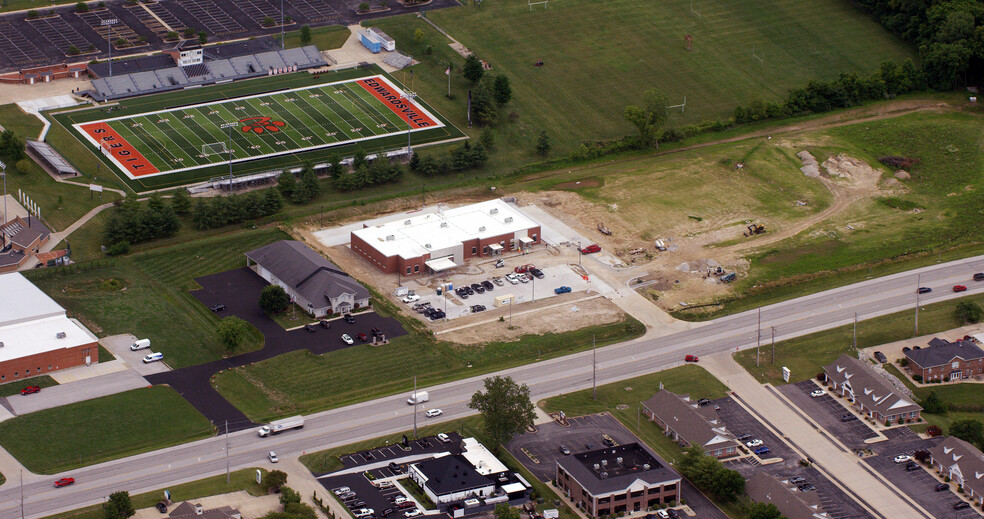
[[[679,503],[680,481],[679,474],[638,443],[557,460],[557,486],[593,517]]]

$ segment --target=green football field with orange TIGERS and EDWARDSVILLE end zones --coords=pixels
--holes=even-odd
[[[72,125],[130,179],[444,126],[387,78],[335,83]]]

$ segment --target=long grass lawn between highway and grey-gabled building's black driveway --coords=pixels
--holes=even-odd
[[[377,312],[393,308],[375,298]],[[402,310],[396,310],[401,312]],[[564,334],[528,335],[514,342],[461,347],[412,329],[387,346],[360,344],[324,355],[294,351],[223,371],[216,389],[253,420],[310,413],[621,342],[645,332],[632,319]],[[380,374],[385,374],[380,376]]]

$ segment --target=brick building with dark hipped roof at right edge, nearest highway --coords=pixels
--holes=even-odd
[[[923,381],[961,380],[984,374],[984,350],[970,341],[933,339],[929,347],[905,352],[909,370]]]

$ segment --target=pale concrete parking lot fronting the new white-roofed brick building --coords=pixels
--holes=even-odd
[[[517,265],[518,260],[512,260],[507,265]],[[503,295],[512,295],[513,304],[539,301],[547,298],[566,297],[571,300],[584,297],[590,294],[597,294],[599,291],[609,290],[608,286],[594,279],[590,281],[578,274],[570,265],[560,264],[546,266],[541,269],[542,279],[537,279],[530,274],[516,274],[514,268],[495,268],[493,263],[482,265],[485,272],[476,274],[458,274],[448,278],[454,291],[451,293],[437,294],[436,290],[416,289],[415,294],[419,296],[416,304],[429,304],[432,308],[442,310],[447,314],[448,319],[456,319],[479,313],[486,310],[495,309],[495,298]],[[514,282],[510,282],[507,274],[515,274]],[[525,280],[525,281],[524,281]],[[487,282],[486,286],[480,286]],[[488,284],[492,289],[487,288]],[[463,287],[468,287],[470,293],[464,292]],[[560,287],[569,287],[569,293],[557,294],[554,290]],[[479,292],[481,289],[481,292]],[[412,305],[413,303],[411,303]],[[485,307],[479,310],[477,305]],[[517,308],[518,310],[518,308]]]

